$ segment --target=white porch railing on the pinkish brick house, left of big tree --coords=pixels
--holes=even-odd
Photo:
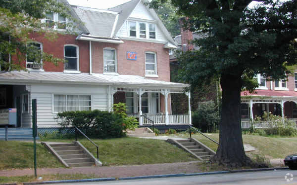
[[[146,114],[146,116],[142,116],[142,123],[143,125],[151,125],[152,121],[154,122],[154,125],[164,125],[166,124],[166,115],[165,114],[159,114],[159,115],[149,115]],[[188,114],[180,114],[180,115],[168,115],[168,121],[170,124],[189,124],[190,119]]]

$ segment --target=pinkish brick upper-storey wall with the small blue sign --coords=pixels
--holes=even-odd
[[[92,42],[92,73],[103,73],[103,48],[111,47],[117,52],[117,73],[145,76],[145,53],[152,51],[157,54],[158,77],[151,79],[170,81],[169,53],[164,44],[123,40],[124,43]],[[136,52],[137,60],[127,60],[127,51]]]

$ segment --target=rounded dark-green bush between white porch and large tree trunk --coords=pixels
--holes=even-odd
[[[215,132],[220,116],[214,103],[200,104],[197,111],[192,114],[192,124],[201,132]]]

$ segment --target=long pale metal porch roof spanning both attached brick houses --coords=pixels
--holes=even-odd
[[[184,88],[188,84],[148,79],[138,75],[66,74],[58,72],[12,71],[0,73],[0,83],[64,83],[113,86]]]

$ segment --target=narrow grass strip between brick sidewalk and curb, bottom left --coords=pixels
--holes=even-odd
[[[100,178],[94,174],[49,174],[42,175],[42,179],[34,176],[14,176],[14,177],[0,177],[0,184],[3,183],[18,183],[23,182],[42,182],[42,181],[56,181],[56,180],[76,180],[76,179],[94,179]]]

